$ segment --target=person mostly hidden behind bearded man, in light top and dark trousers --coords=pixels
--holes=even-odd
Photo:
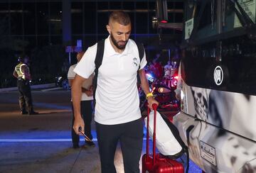
[[[78,62],[80,62],[82,55],[84,55],[84,53],[85,52],[83,51],[78,52],[77,54]],[[74,69],[76,65],[77,64],[71,65],[70,68],[68,69],[68,83],[70,84],[71,88],[73,84],[73,79],[75,78]],[[82,118],[85,121],[84,131],[85,131],[85,135],[87,135],[87,137],[90,138],[90,140],[92,140],[92,133],[91,133],[92,100],[93,100],[92,87],[89,87],[89,89],[85,89],[84,87],[81,87],[81,91],[82,91],[82,96],[80,99],[80,109],[81,109]],[[78,148],[80,147],[79,146],[80,137],[78,134],[75,133],[75,130],[73,129],[74,120],[75,120],[73,104],[72,104],[72,112],[73,112],[73,116],[72,116],[71,136],[72,136],[73,148]],[[85,143],[90,146],[95,145],[95,143],[93,143],[90,140],[85,139]]]

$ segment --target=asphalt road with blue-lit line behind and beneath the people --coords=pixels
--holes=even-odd
[[[70,91],[38,90],[32,95],[40,114],[23,116],[18,108],[18,92],[0,92],[0,172],[100,172],[94,123],[96,146],[72,148]],[[142,155],[145,145],[144,140]],[[124,172],[119,147],[114,162],[117,172]],[[201,170],[191,162],[189,172]]]

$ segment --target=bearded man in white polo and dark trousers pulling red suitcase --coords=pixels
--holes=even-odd
[[[143,123],[139,110],[137,72],[142,89],[148,99],[149,108],[158,104],[149,91],[144,74],[146,56],[140,62],[136,43],[129,39],[132,23],[124,11],[110,14],[105,39],[105,51],[102,65],[98,69],[95,99],[95,124],[99,145],[101,169],[103,173],[116,172],[114,154],[119,142],[121,145],[124,172],[139,172],[139,159],[143,143]],[[81,85],[95,70],[97,44],[88,48],[82,60],[75,67],[76,73],[72,87],[72,99],[75,112],[73,128],[80,134],[84,121],[80,113]]]

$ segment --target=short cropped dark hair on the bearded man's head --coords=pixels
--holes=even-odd
[[[112,13],[110,13],[109,23],[111,21],[116,21],[123,26],[127,26],[131,23],[129,14],[124,11],[113,11]]]

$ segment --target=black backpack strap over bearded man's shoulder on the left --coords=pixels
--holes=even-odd
[[[100,40],[97,43],[97,53],[95,57],[95,76],[93,77],[93,81],[92,81],[94,99],[95,99],[96,88],[97,88],[97,75],[99,72],[100,65],[102,65],[102,60],[104,55],[104,46],[105,46],[105,39]],[[95,99],[95,103],[96,103],[96,99]]]

